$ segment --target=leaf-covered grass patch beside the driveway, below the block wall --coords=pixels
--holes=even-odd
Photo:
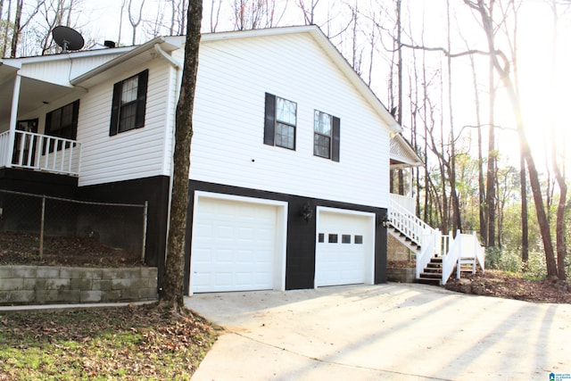
[[[0,380],[190,379],[216,338],[163,306],[0,314]]]

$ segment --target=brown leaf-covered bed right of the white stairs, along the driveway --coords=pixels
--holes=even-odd
[[[451,291],[466,294],[480,294],[526,302],[571,302],[571,284],[562,280],[532,280],[519,275],[497,270],[486,270],[484,274],[462,275],[451,278],[445,286]]]

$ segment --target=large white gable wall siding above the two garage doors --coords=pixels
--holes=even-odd
[[[264,95],[297,103],[296,150],[263,144]],[[313,156],[313,112],[341,119],[340,162]],[[307,35],[201,46],[190,178],[388,206],[389,134]]]

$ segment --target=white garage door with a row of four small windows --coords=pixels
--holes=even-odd
[[[316,286],[372,283],[373,228],[370,217],[319,212]]]

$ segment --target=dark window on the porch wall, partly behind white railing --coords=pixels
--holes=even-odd
[[[78,117],[79,99],[53,112],[46,113],[46,135],[75,140],[78,137]],[[65,148],[69,146],[70,143],[65,144]],[[54,152],[54,149],[62,150],[62,142],[59,141],[57,147],[54,147],[54,141],[50,141],[49,152]],[[45,152],[46,146],[43,150]]]

